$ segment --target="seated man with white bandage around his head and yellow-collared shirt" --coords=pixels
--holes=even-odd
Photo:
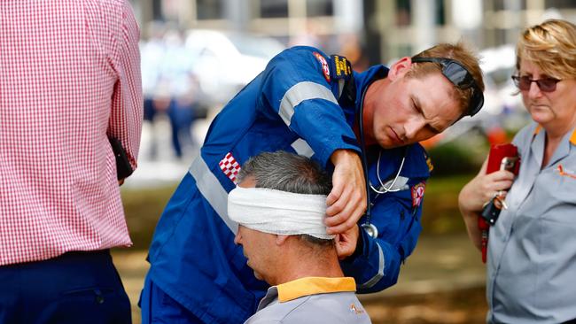
[[[308,158],[284,151],[249,159],[228,212],[256,278],[272,287],[246,323],[370,323],[326,233],[331,179]],[[338,241],[338,240],[337,240]]]

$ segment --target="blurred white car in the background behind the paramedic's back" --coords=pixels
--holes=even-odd
[[[270,37],[193,29],[184,48],[198,81],[198,100],[213,107],[227,103],[285,47]]]

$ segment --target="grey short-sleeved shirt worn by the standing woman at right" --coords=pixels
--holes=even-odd
[[[545,130],[514,139],[522,162],[490,228],[486,298],[491,323],[560,323],[576,318],[576,129],[541,167]]]

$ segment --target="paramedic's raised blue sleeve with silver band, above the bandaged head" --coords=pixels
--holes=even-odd
[[[261,74],[257,106],[264,116],[283,122],[304,139],[326,166],[334,150],[360,149],[315,53],[322,52],[295,47],[273,58]]]

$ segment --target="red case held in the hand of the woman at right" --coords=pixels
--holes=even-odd
[[[508,170],[513,174],[518,174],[519,168],[518,148],[514,144],[496,144],[490,147],[486,174],[492,174],[499,170]],[[490,224],[484,218],[479,217],[478,227],[482,231],[482,262],[486,263]]]

